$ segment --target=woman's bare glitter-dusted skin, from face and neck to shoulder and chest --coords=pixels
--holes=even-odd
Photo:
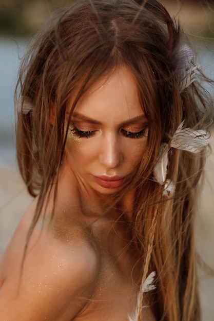
[[[72,97],[66,119],[71,105]],[[138,167],[147,140],[147,119],[129,69],[122,66],[95,83],[68,126],[54,219],[49,221],[51,194],[21,275],[35,198],[0,262],[1,320],[127,321],[135,308],[138,257],[128,242],[129,226],[126,217],[115,223],[119,211],[106,210]],[[130,210],[133,194],[124,196],[124,208]],[[154,320],[149,307],[143,320]]]

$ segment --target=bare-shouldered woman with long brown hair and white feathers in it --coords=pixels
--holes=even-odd
[[[35,199],[1,261],[1,319],[200,320],[198,69],[154,0],[81,0],[35,36],[16,89]]]

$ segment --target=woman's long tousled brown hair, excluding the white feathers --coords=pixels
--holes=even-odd
[[[200,84],[180,92],[181,44],[180,27],[155,0],[81,0],[59,11],[33,38],[21,64],[16,96],[28,99],[32,109],[18,111],[17,158],[29,193],[39,194],[30,236],[50,186],[56,196],[70,97],[75,93],[72,114],[81,95],[101,76],[126,65],[136,79],[149,127],[142,163],[129,184],[136,191],[129,223],[130,242],[142,256],[139,281],[147,272],[157,272],[152,305],[157,320],[197,321],[192,225],[204,152],[172,150],[168,177],[176,183],[174,197],[162,196],[162,186],[153,179],[161,143],[169,142],[183,120],[186,127],[205,128],[209,106]]]

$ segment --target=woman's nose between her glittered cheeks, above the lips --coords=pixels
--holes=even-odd
[[[99,161],[107,169],[114,169],[123,162],[119,138],[116,135],[108,134],[101,142]]]

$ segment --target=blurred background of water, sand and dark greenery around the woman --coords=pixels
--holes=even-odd
[[[162,0],[181,22],[199,54],[198,63],[214,79],[214,0]],[[53,11],[70,0],[0,0],[0,255],[22,214],[32,201],[15,160],[13,93],[25,47]],[[207,89],[210,88],[207,86]],[[214,95],[214,92],[212,91]],[[214,135],[213,135],[214,136]],[[214,137],[210,139],[214,147]],[[207,159],[204,186],[197,203],[196,243],[206,264],[214,269],[214,154]],[[202,320],[214,320],[214,277],[199,268]]]

